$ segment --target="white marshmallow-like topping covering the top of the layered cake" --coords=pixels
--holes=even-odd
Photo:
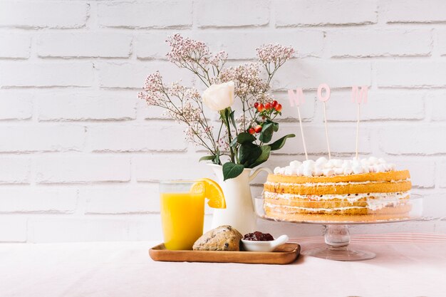
[[[395,171],[395,167],[395,164],[385,162],[383,158],[378,159],[377,157],[364,159],[353,158],[353,160],[327,160],[326,157],[320,157],[316,161],[292,161],[286,167],[274,168],[274,174],[298,175],[305,177],[331,177],[333,175]]]

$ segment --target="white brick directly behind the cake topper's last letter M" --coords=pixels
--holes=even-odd
[[[401,90],[369,90],[368,103],[361,105],[364,120],[421,120],[425,116],[424,95]],[[326,104],[331,121],[356,121],[356,103],[351,103],[351,90],[333,90]],[[395,112],[398,110],[398,113]]]

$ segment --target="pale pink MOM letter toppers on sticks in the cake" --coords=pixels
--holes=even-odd
[[[326,113],[326,102],[330,99],[331,90],[328,84],[321,83],[318,86],[317,97],[323,103],[323,120],[325,124],[325,136],[327,141],[327,150],[328,150],[328,159],[331,159],[330,152],[330,142],[328,141],[328,125],[327,125],[327,113]],[[305,103],[304,91],[302,88],[296,88],[296,92],[294,90],[288,90],[288,99],[291,107],[297,107],[297,114],[299,116],[299,125],[301,127],[301,137],[302,137],[302,145],[304,145],[305,158],[308,160],[308,153],[306,151],[306,143],[304,136],[304,128],[302,127],[302,119],[301,119],[301,110],[299,106]],[[351,87],[351,102],[356,103],[357,107],[357,120],[356,120],[356,159],[358,159],[358,139],[359,139],[359,118],[361,113],[361,104],[367,103],[368,100],[368,86],[363,85],[358,87],[358,85],[353,85]]]

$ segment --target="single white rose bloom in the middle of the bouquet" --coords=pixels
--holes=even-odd
[[[234,82],[211,85],[204,90],[202,98],[204,105],[212,110],[229,108],[234,103]]]

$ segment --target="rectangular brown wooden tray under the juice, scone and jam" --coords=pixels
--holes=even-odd
[[[172,262],[217,262],[247,264],[290,264],[301,251],[299,244],[282,244],[274,251],[170,251],[164,244],[149,249],[150,258],[155,261]]]

